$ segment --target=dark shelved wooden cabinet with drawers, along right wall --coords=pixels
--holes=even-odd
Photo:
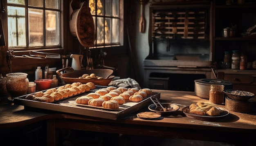
[[[256,93],[256,70],[221,69],[224,51],[239,50],[248,62],[256,60],[256,34],[245,35],[249,28],[256,26],[256,2],[246,0],[244,4],[226,5],[225,0],[213,1],[213,62],[218,63],[218,72],[224,72],[224,80],[233,83],[235,90]],[[233,37],[222,37],[222,29],[235,27]],[[256,28],[251,32],[256,33]]]

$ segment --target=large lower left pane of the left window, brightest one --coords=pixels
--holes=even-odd
[[[25,8],[8,6],[8,45],[26,46]]]

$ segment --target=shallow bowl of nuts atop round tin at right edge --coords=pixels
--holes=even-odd
[[[224,90],[224,93],[231,99],[240,102],[246,102],[252,97],[255,97],[254,93],[241,91],[241,90]]]

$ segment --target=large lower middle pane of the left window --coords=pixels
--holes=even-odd
[[[43,10],[28,9],[29,46],[43,46]]]

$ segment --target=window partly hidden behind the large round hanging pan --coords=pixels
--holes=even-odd
[[[123,0],[89,0],[89,7],[96,28],[95,46],[121,45]]]

